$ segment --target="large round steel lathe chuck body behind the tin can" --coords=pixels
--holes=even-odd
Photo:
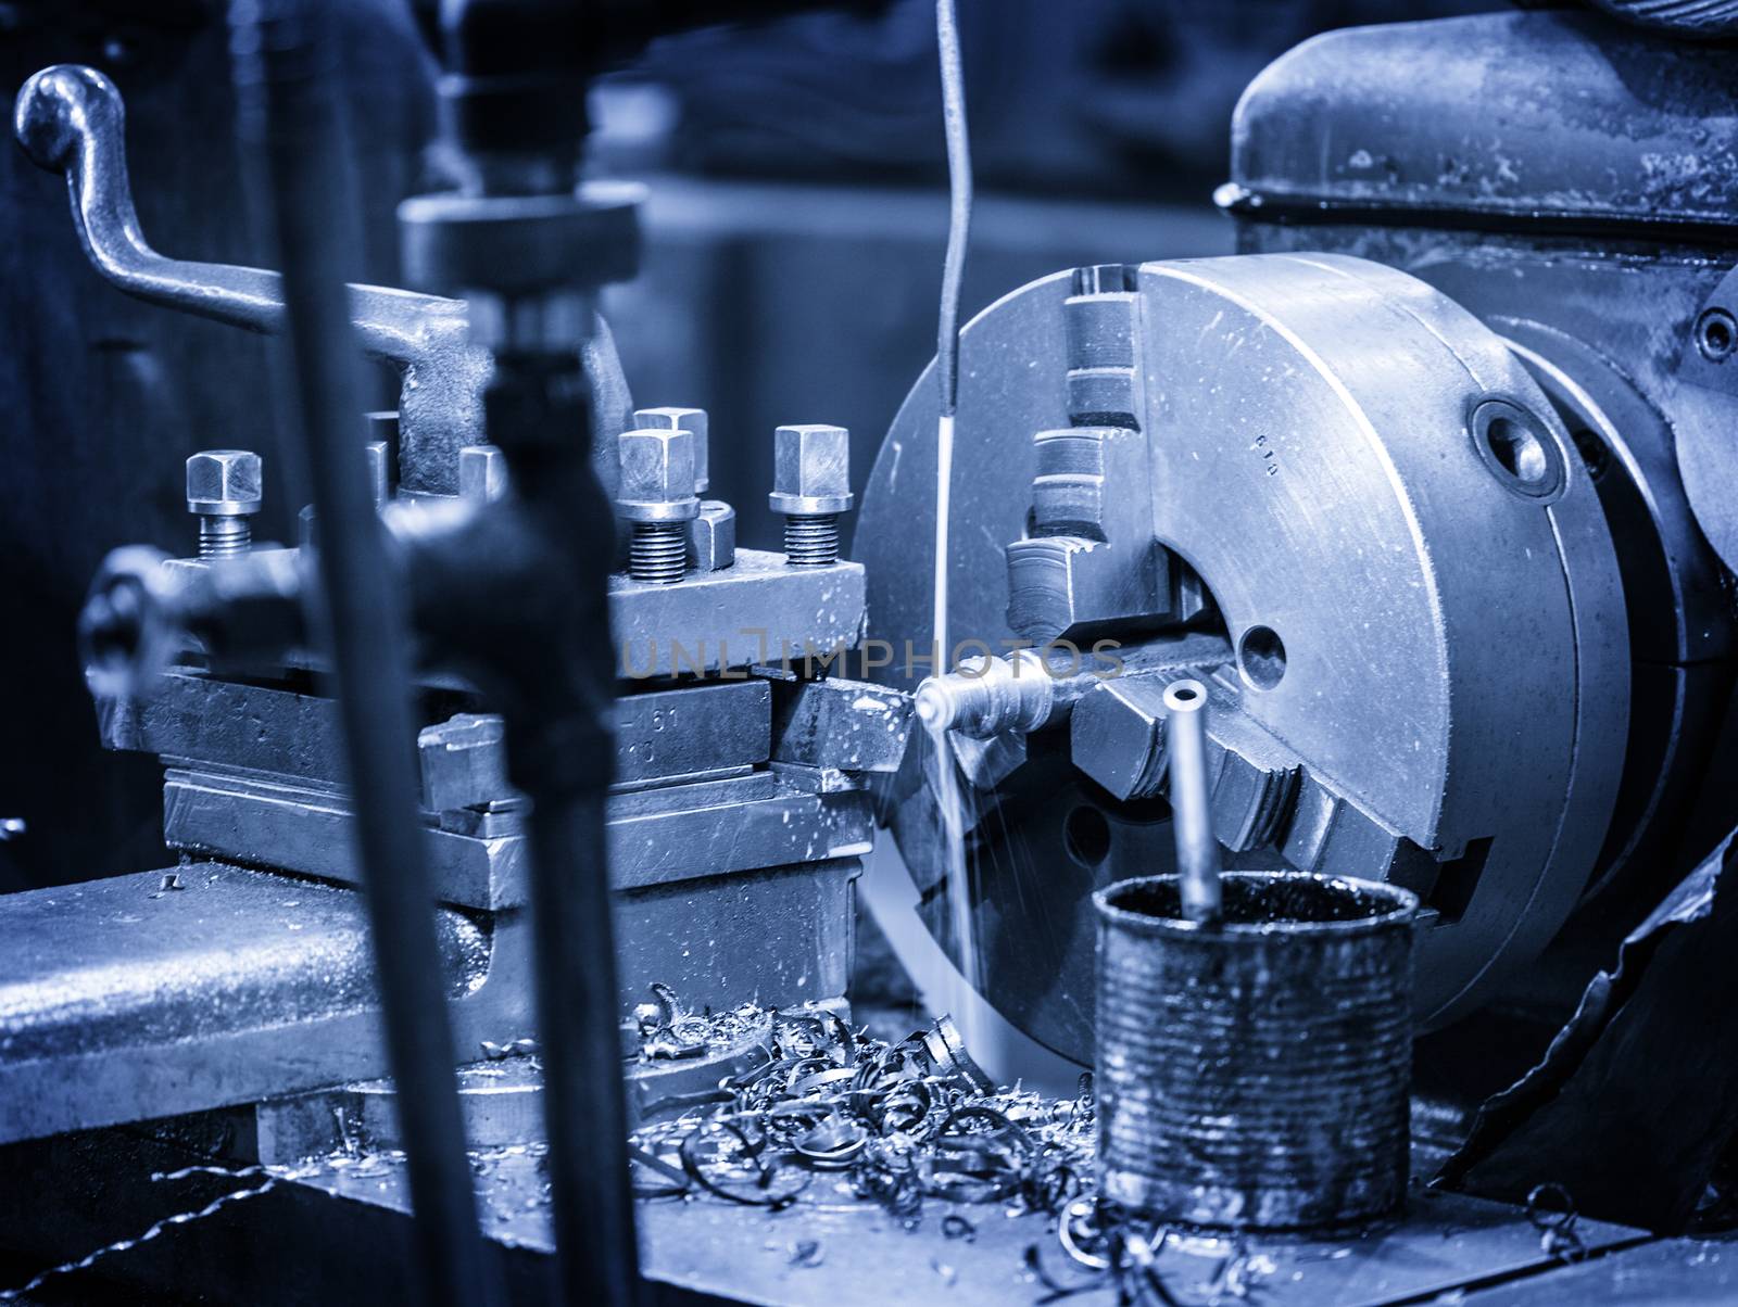
[[[1071,622],[1097,634],[1093,624],[1104,622],[1133,643],[1130,626],[1175,622],[1128,617],[1151,610],[1128,603],[1126,589],[1095,589],[1097,563],[1079,567],[1114,549],[1118,532],[1102,544],[1078,534],[1078,518],[1144,516],[1145,539],[1184,560],[1210,600],[1192,624],[1229,645],[1234,667],[1210,693],[1234,700],[1229,721],[1248,723],[1251,758],[1276,753],[1250,768],[1222,763],[1224,784],[1243,794],[1227,838],[1265,836],[1257,848],[1276,859],[1392,874],[1441,895],[1427,902],[1439,914],[1420,935],[1415,992],[1422,1018],[1444,1020],[1556,932],[1613,820],[1630,655],[1616,551],[1592,478],[1522,360],[1463,308],[1392,268],[1316,254],[1201,259],[1142,264],[1128,283],[1144,320],[1166,323],[1138,334],[1142,374],[1215,379],[1166,386],[1163,396],[1149,389],[1138,431],[1069,435],[1060,382],[1079,349],[1078,332],[1074,342],[1069,334],[1071,275],[1006,295],[965,328],[949,629],[991,647],[1022,634],[1013,629],[1025,624],[1012,603],[1018,587],[1001,591],[991,579],[1020,575],[1025,551],[1034,575],[1050,577],[1032,593],[1065,600],[1050,629]],[[1408,360],[1399,372],[1397,356]],[[932,638],[935,490],[911,469],[933,466],[932,391],[919,379],[895,419],[855,537],[871,582],[871,636],[919,648]],[[1516,494],[1481,454],[1472,415],[1498,398],[1522,408],[1528,435],[1561,455],[1554,501]],[[1034,445],[1034,431],[1062,433],[1045,441],[1055,459]],[[1116,457],[1131,438],[1145,441],[1145,476],[1104,478],[1098,501],[1069,481],[1076,490],[1046,504],[1074,534],[1029,534],[1039,478],[1074,476],[1062,452]],[[1517,662],[1493,640],[1493,622],[1522,622],[1529,657]],[[1347,667],[1359,669],[1356,683]],[[916,680],[904,667],[883,678],[899,688]],[[1109,695],[1102,707],[1116,707],[1114,695],[1098,693]],[[1516,713],[1528,720],[1519,744]],[[1135,819],[1138,793],[1151,791],[1163,763],[1154,732],[1135,735],[1145,742],[1116,761],[1128,799],[1062,784],[1048,749],[998,786],[1006,801],[978,799],[1018,815],[1018,834],[980,824],[972,843],[989,956],[1003,947],[999,933],[1017,956],[1055,930],[1060,912],[1076,914],[1076,940],[1086,925],[1079,907],[1064,907],[1081,902],[1079,888],[1039,902],[1031,878],[1006,867],[1053,855],[1067,867],[1060,879],[1088,890],[1151,869],[1140,864],[1152,857],[1147,827]],[[1277,758],[1279,742],[1295,765]],[[1088,751],[1076,754],[1104,773]],[[1244,758],[1241,746],[1231,754]],[[1309,820],[1291,815],[1305,791],[1324,796],[1319,826],[1314,808]],[[1231,793],[1215,798],[1231,806]],[[932,874],[916,862],[945,855],[921,836],[925,820],[914,810],[893,822],[919,886]],[[1015,853],[1015,843],[1043,853]],[[935,907],[945,939],[945,909]],[[1090,1015],[1038,1010],[1058,985],[1079,987],[1055,975],[1029,984],[1005,968],[987,975],[989,999],[1006,1003],[1018,1024],[1074,1057],[1090,1053]]]

